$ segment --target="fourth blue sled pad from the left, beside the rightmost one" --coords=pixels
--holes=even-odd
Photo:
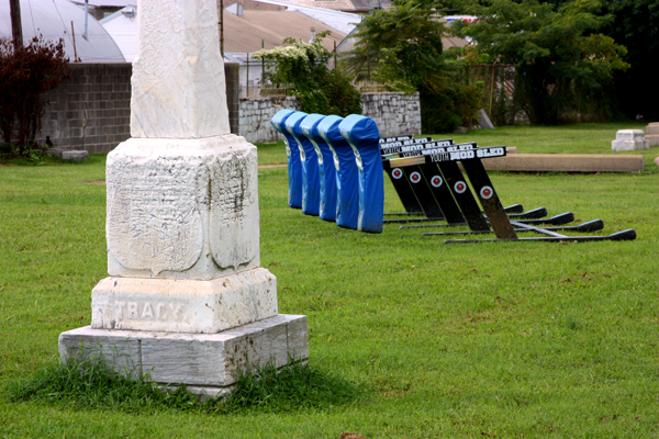
[[[317,126],[319,134],[332,149],[336,170],[336,225],[357,229],[359,219],[359,170],[353,148],[340,135],[343,117],[330,115]]]

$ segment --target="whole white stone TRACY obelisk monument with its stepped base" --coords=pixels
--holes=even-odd
[[[228,134],[215,0],[137,11],[132,137],[107,164],[110,278],[92,291],[91,326],[63,333],[59,352],[213,396],[247,362],[306,359],[306,316],[278,314],[259,267],[256,147]]]

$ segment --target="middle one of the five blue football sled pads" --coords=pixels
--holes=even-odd
[[[322,114],[310,114],[302,120],[302,133],[313,145],[319,156],[319,178],[321,183],[321,219],[336,221],[336,169],[334,156],[327,143],[319,133],[319,124],[325,119]]]

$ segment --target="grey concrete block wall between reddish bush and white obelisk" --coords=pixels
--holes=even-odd
[[[71,77],[47,93],[37,142],[109,153],[131,136],[132,65],[70,64]]]

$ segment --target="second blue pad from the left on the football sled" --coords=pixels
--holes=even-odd
[[[321,180],[319,177],[319,156],[309,138],[302,133],[300,124],[306,113],[297,111],[286,120],[286,128],[295,137],[302,164],[302,213],[319,216],[321,211]]]

